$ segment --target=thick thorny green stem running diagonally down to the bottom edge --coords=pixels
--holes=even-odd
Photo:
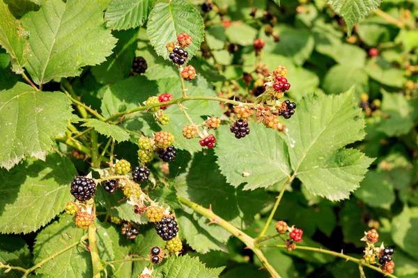
[[[260,259],[261,263],[263,263],[264,267],[268,272],[270,272],[270,275],[272,275],[273,278],[281,278],[279,273],[277,273],[276,270],[270,265],[270,263],[265,258],[263,252],[261,252],[260,248],[256,247],[254,238],[251,238],[251,236],[248,236],[240,229],[236,228],[229,222],[226,222],[222,218],[220,218],[218,215],[213,213],[211,210],[208,210],[207,208],[203,208],[203,206],[199,206],[198,204],[185,199],[181,196],[177,196],[180,203],[184,204],[185,206],[188,206],[189,208],[192,208],[196,213],[200,213],[203,216],[206,216],[212,223],[218,224],[220,227],[226,229],[226,231],[229,231],[233,236],[238,238],[242,241],[245,245],[247,245],[247,248],[252,250],[256,256],[258,256],[258,259]]]

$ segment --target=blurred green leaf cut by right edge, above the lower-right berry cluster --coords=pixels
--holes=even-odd
[[[414,259],[418,259],[418,208],[405,206],[401,214],[392,220],[392,238],[396,245],[402,248]]]

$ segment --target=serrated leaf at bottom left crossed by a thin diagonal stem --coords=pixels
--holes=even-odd
[[[61,216],[58,221],[50,224],[36,236],[33,263],[39,263],[68,245],[79,242],[84,234],[86,230],[75,227],[74,217]],[[90,252],[85,247],[77,245],[44,263],[42,268],[36,270],[36,274],[49,277],[93,277],[92,270]]]

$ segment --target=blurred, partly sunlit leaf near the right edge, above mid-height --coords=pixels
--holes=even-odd
[[[378,131],[384,132],[387,136],[401,136],[407,134],[414,126],[412,113],[414,107],[404,95],[390,93],[382,90],[383,101],[381,111],[388,117],[384,117]]]

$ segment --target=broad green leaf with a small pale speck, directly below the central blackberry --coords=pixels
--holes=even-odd
[[[279,132],[261,123],[249,122],[249,128],[251,132],[234,145],[233,152],[233,133],[226,126],[219,129],[215,153],[226,181],[235,187],[246,183],[245,190],[285,183],[291,173],[286,142],[279,136]],[[249,172],[249,175],[245,175],[245,172]]]

